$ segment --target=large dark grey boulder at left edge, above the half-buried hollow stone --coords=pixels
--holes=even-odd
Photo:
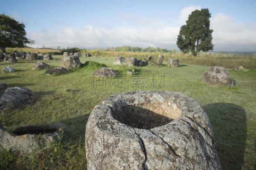
[[[0,110],[7,107],[20,108],[33,105],[35,101],[33,92],[27,88],[18,86],[7,88],[0,100]]]

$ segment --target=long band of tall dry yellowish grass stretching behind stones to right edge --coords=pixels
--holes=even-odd
[[[88,53],[94,52],[87,50]],[[138,59],[148,59],[148,55],[151,55],[154,60],[157,60],[159,54],[164,55],[164,61],[168,61],[169,58],[178,58],[182,64],[194,64],[203,66],[220,66],[224,68],[232,69],[234,66],[242,65],[245,69],[256,69],[256,56],[253,55],[237,55],[237,54],[219,54],[219,53],[200,53],[196,57],[191,54],[183,54],[181,52],[171,53],[149,53],[149,52],[116,52],[116,51],[103,51],[98,50],[98,56],[104,57],[116,57],[122,55],[126,57],[135,57]],[[94,55],[92,53],[92,55]]]

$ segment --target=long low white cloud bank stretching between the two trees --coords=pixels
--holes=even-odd
[[[61,48],[106,48],[116,46],[175,48],[179,27],[164,28],[125,28],[110,31],[84,26],[82,29],[62,27],[58,32],[44,29],[42,32],[28,32],[28,38],[35,40],[34,47]],[[172,47],[170,47],[172,46]]]

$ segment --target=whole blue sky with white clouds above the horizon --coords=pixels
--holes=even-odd
[[[32,47],[173,49],[188,15],[208,8],[214,51],[256,51],[256,2],[219,0],[8,0],[0,12],[25,24]]]

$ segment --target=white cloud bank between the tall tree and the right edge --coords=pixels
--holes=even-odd
[[[214,49],[223,51],[256,50],[256,24],[236,23],[223,13],[211,19]],[[254,49],[253,49],[254,46]]]

